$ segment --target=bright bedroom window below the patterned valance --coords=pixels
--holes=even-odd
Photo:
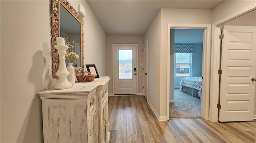
[[[191,76],[192,53],[174,54],[174,76]]]

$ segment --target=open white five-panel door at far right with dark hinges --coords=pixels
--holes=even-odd
[[[222,33],[219,121],[253,120],[256,28],[225,25]]]

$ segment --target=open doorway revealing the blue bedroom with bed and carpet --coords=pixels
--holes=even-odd
[[[174,32],[174,92],[170,118],[200,118],[204,29],[171,29]]]

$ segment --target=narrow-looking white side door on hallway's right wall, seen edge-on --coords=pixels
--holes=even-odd
[[[143,95],[148,98],[148,39],[143,44]]]

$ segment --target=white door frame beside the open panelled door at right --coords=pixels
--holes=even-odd
[[[219,20],[218,22],[215,22],[212,24],[212,50],[211,50],[211,80],[210,80],[210,109],[209,109],[209,120],[213,122],[218,122],[218,108],[216,108],[216,105],[219,103],[219,66],[220,66],[220,26],[225,24],[226,22],[229,22],[231,20],[234,20],[235,18],[238,18],[240,16],[243,16],[245,14],[248,14],[249,12],[252,12],[253,10],[256,10],[256,4],[252,4],[251,6],[248,6],[234,14],[231,14],[230,16],[227,16],[226,18],[223,18],[222,20]],[[215,72],[213,72],[215,71]]]

